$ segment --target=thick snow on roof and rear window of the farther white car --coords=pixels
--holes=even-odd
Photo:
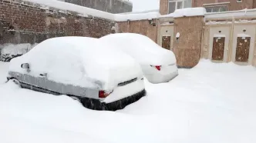
[[[135,33],[116,33],[99,38],[111,48],[131,55],[140,65],[176,64],[176,57],[170,50],[161,48],[157,43],[144,35]]]

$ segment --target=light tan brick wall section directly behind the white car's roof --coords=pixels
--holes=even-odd
[[[153,19],[153,23],[157,23],[156,19]],[[154,42],[157,42],[157,26],[150,25],[148,20],[132,21],[132,22],[117,22],[117,32],[124,33],[138,33],[146,35],[151,38]]]

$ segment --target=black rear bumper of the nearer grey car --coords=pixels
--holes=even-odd
[[[125,108],[127,105],[130,105],[142,98],[146,95],[146,90],[143,89],[140,92],[137,92],[134,95],[131,95],[129,97],[120,99],[118,101],[113,101],[110,103],[101,102],[97,99],[93,98],[82,98],[81,102],[84,107],[90,108],[93,110],[106,110],[106,111],[116,111]]]

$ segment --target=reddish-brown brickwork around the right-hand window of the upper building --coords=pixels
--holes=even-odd
[[[236,0],[194,0],[193,7],[202,7],[204,4],[220,3],[220,2],[230,2],[227,5],[229,11],[241,10],[244,8],[253,8],[254,0],[245,0],[242,2],[237,2]]]

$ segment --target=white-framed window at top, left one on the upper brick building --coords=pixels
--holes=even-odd
[[[176,9],[191,7],[192,0],[169,0],[169,13],[173,13]]]

